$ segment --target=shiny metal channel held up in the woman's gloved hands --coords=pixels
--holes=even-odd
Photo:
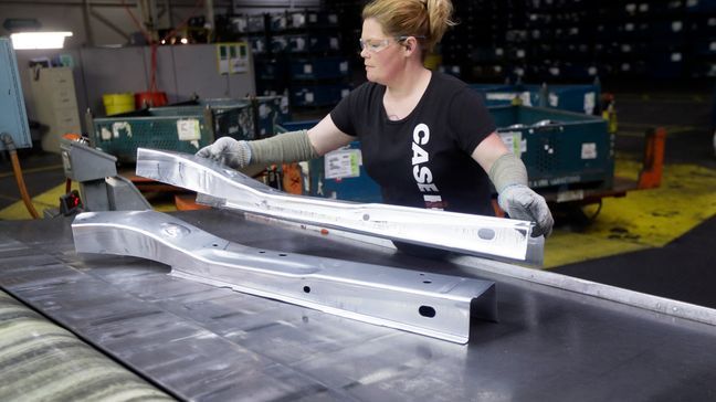
[[[137,150],[136,173],[219,198],[229,209],[459,253],[536,265],[544,258],[544,242],[533,241],[527,221],[286,194],[214,161],[147,148]]]

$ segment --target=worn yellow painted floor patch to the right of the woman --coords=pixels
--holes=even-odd
[[[617,174],[636,178],[640,163],[618,160]],[[587,213],[596,207],[587,207]],[[545,245],[545,267],[649,247],[661,247],[716,214],[716,170],[695,165],[664,167],[662,186],[603,199],[582,233],[556,230]]]

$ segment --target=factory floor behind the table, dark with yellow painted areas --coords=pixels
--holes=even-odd
[[[556,207],[545,268],[716,308],[716,156],[708,95],[617,93],[615,174],[636,179],[644,133],[667,133],[661,187],[603,199],[601,208]],[[30,219],[10,161],[0,157],[0,220]],[[42,213],[64,192],[59,155],[21,150],[29,193]],[[147,194],[160,210],[172,198]],[[597,213],[598,212],[598,213]],[[593,216],[593,218],[592,218]]]

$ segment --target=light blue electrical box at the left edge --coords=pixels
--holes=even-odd
[[[8,38],[0,38],[0,134],[8,133],[17,148],[31,148],[18,62]],[[4,149],[1,141],[0,149]]]

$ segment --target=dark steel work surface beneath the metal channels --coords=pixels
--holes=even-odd
[[[352,321],[145,260],[77,255],[69,219],[0,222],[0,284],[181,399],[716,398],[713,326],[228,211],[177,216],[254,247],[495,281],[501,320],[476,322],[466,346]]]

